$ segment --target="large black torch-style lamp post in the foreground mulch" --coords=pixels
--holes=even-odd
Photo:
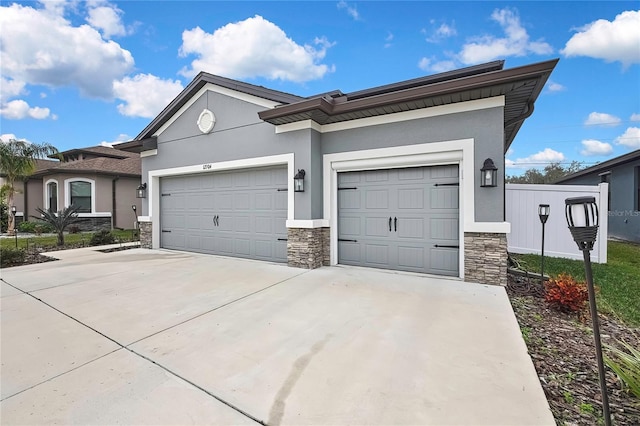
[[[565,200],[565,214],[569,231],[573,240],[582,251],[584,257],[585,275],[589,291],[589,309],[593,322],[593,339],[596,344],[596,358],[598,361],[598,375],[600,376],[600,392],[602,393],[602,413],[604,424],[611,426],[611,413],[609,411],[609,396],[607,394],[607,382],[605,379],[604,362],[602,361],[602,345],[600,343],[600,326],[598,324],[598,309],[593,288],[593,274],[591,271],[591,256],[593,245],[598,234],[598,206],[595,197],[567,198]]]

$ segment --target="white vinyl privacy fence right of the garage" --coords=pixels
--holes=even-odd
[[[545,225],[544,255],[582,259],[582,252],[573,241],[565,217],[566,198],[593,196],[598,205],[600,228],[591,261],[607,263],[608,183],[583,185],[506,185],[506,221],[511,223],[507,234],[509,252],[540,254],[542,224],[538,205],[549,204],[549,219]]]

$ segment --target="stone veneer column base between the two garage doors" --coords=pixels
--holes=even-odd
[[[315,269],[325,264],[325,251],[329,250],[328,231],[329,228],[288,228],[287,264],[305,269]],[[326,257],[328,265],[328,255]]]

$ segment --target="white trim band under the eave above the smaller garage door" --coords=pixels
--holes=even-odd
[[[320,133],[339,132],[342,130],[357,129],[360,127],[398,123],[401,121],[418,120],[421,118],[437,117],[441,115],[457,114],[469,111],[478,111],[487,108],[497,108],[503,107],[504,105],[505,97],[503,95],[500,95],[486,99],[477,99],[474,101],[458,102],[449,105],[440,105],[430,108],[416,109],[412,111],[378,115],[376,117],[359,118],[356,120],[343,121],[340,123],[320,125],[313,120],[304,120],[276,126],[276,133],[293,132],[303,129],[313,129]]]

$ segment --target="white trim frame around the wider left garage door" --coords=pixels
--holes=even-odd
[[[295,174],[294,154],[270,155],[267,157],[244,158],[242,160],[221,161],[218,163],[196,164],[193,166],[172,167],[168,169],[151,170],[147,173],[147,194],[149,197],[149,216],[152,222],[151,247],[160,248],[160,178],[168,176],[191,175],[197,173],[210,173],[223,170],[247,169],[253,167],[287,165],[287,219],[295,218],[295,205],[293,190],[293,176]],[[155,212],[158,212],[157,214]],[[153,220],[154,215],[156,219]]]

